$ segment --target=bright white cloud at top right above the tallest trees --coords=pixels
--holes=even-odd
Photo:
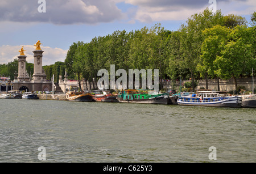
[[[134,20],[151,23],[161,20],[185,20],[191,15],[203,12],[210,7],[209,0],[124,0],[125,3],[137,6]],[[216,0],[217,10],[224,14],[247,15],[256,9],[255,0]]]

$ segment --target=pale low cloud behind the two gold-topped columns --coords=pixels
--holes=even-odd
[[[10,46],[10,45],[3,45],[0,46],[0,64],[9,63],[14,61],[15,58],[19,56],[19,50],[24,46],[26,50],[25,55],[27,56],[26,61],[29,63],[34,63],[34,53],[35,50],[34,45],[17,45],[17,46]],[[67,55],[68,50],[63,50],[60,48],[51,48],[49,46],[40,46],[41,49],[44,51],[43,53],[43,66],[44,65],[52,65],[57,61],[64,62],[65,57]]]

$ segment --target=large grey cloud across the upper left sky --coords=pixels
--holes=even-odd
[[[39,6],[38,1],[2,0],[0,21],[97,24],[124,16],[112,0],[46,0],[46,12],[42,13],[38,11]]]

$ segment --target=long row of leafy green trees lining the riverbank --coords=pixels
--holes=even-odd
[[[73,43],[67,53],[65,66],[69,75],[93,82],[100,69],[159,69],[162,79],[180,77],[234,79],[250,76],[255,60],[255,12],[251,27],[245,18],[222,15],[205,9],[194,14],[178,31],[152,28],[94,37],[90,43]],[[97,84],[95,84],[97,86]],[[80,86],[81,88],[81,86]]]

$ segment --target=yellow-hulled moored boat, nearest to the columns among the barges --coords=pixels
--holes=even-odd
[[[68,91],[66,93],[66,98],[68,101],[93,101],[93,95],[85,91]]]

